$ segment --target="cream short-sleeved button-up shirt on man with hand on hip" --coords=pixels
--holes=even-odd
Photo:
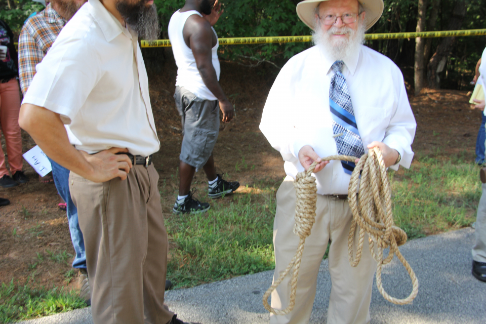
[[[126,147],[143,156],[159,150],[137,34],[99,0],[78,10],[36,71],[23,103],[59,113],[77,149]]]

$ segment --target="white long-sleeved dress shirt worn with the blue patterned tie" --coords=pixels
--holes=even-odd
[[[400,70],[365,46],[343,61],[342,73],[365,152],[371,142],[384,142],[400,153],[399,165],[409,168],[417,124]],[[304,145],[312,146],[320,157],[338,154],[329,109],[333,63],[317,46],[297,54],[281,69],[265,103],[260,129],[294,179],[304,171],[298,159]],[[391,168],[397,170],[398,165]],[[344,173],[341,161],[331,161],[314,176],[319,194],[348,192],[350,175]]]

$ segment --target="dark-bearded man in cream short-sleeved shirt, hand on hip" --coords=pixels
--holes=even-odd
[[[183,323],[164,306],[160,142],[137,42],[159,32],[153,0],[88,0],[37,64],[20,109],[20,126],[70,170],[95,324]]]

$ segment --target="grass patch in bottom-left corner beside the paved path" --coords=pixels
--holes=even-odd
[[[2,283],[0,287],[0,323],[9,323],[86,307],[77,292],[63,288],[33,288]]]

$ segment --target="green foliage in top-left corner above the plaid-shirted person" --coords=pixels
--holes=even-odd
[[[24,21],[33,12],[44,10],[44,6],[31,0],[6,0],[0,2],[0,19],[4,20],[14,33],[20,33]]]

